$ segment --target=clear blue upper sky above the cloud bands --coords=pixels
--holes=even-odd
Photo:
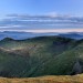
[[[83,15],[83,0],[0,0],[0,15],[8,13]]]

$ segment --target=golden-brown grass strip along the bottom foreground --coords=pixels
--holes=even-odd
[[[4,79],[0,77],[0,83],[83,83],[83,74],[74,76],[41,76],[28,79]]]

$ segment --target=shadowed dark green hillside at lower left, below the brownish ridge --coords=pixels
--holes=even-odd
[[[1,76],[8,76],[8,77],[22,76],[24,71],[29,70],[31,66],[27,58],[0,50]]]

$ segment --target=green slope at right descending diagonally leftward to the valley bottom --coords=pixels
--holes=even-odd
[[[74,49],[70,51],[65,51],[53,59],[50,59],[48,62],[42,64],[37,72],[33,74],[33,76],[37,75],[66,75],[71,74],[73,71],[74,64],[79,62],[82,71],[83,71],[83,43],[75,46]],[[50,72],[51,71],[51,72]]]

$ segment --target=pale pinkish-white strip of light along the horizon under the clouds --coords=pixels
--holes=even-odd
[[[83,29],[34,29],[34,30],[0,30],[0,32],[4,31],[14,31],[14,32],[32,32],[32,33],[66,33],[66,32],[83,32]]]

